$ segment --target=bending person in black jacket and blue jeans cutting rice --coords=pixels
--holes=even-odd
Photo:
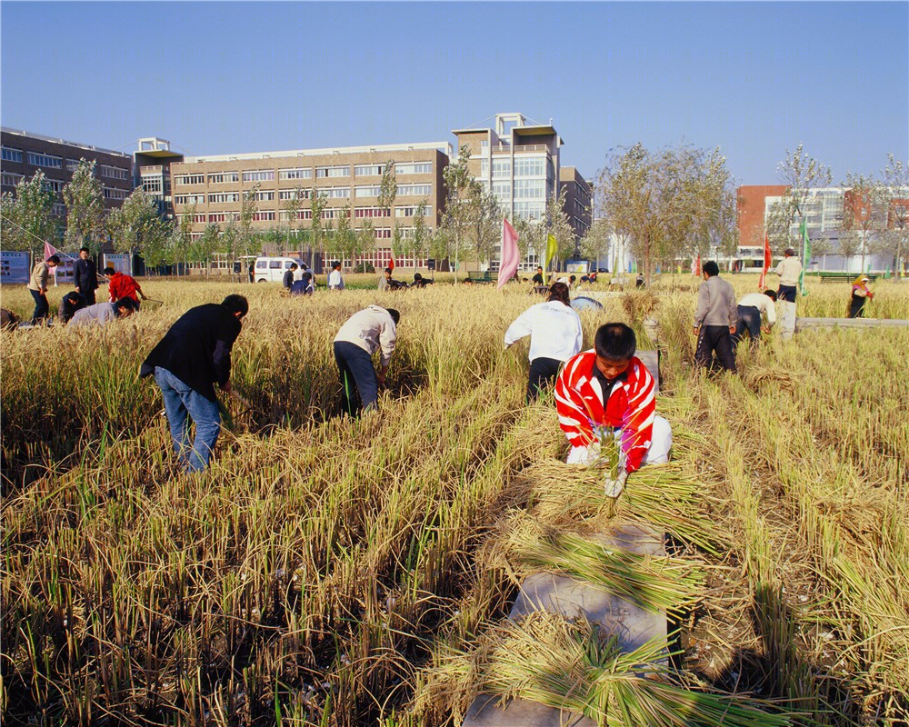
[[[139,371],[141,376],[154,374],[164,395],[174,450],[184,472],[204,470],[215,448],[221,432],[215,382],[221,391],[230,391],[231,350],[248,311],[243,295],[228,295],[220,304],[190,308],[152,349]],[[195,423],[192,444],[187,418]]]

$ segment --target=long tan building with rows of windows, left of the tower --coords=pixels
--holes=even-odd
[[[426,229],[435,231],[445,200],[442,171],[450,154],[450,144],[430,142],[190,156],[170,164],[171,198],[177,217],[193,215],[196,236],[203,234],[207,224],[223,226],[239,219],[244,195],[254,193],[256,230],[284,229],[305,237],[312,227],[311,200],[320,194],[325,199],[324,226],[336,227],[342,214],[352,216],[354,231],[366,221],[372,224],[375,251],[357,255],[351,262],[379,268],[391,257],[394,230],[405,238],[413,234],[421,203]],[[383,208],[378,198],[388,162],[394,163],[397,189],[394,204]],[[329,255],[335,255],[330,239],[326,247]],[[422,259],[397,262],[425,264]]]

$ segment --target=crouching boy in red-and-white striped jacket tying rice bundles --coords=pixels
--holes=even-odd
[[[619,443],[619,466],[607,476],[606,494],[618,497],[625,480],[644,464],[668,462],[672,429],[656,416],[656,384],[634,353],[634,331],[601,325],[594,350],[569,359],[555,383],[559,425],[571,443],[568,464],[595,464],[604,437]]]

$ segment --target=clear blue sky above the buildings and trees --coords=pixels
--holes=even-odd
[[[909,152],[906,3],[14,3],[2,123],[131,152],[451,141],[553,119],[609,150],[720,146],[743,184],[786,148],[847,172]]]

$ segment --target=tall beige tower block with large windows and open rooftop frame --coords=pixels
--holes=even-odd
[[[583,235],[591,224],[591,189],[574,167],[561,167],[562,137],[549,124],[531,124],[523,114],[496,114],[489,128],[455,129],[458,149],[470,150],[470,173],[491,191],[511,220],[539,223],[562,186],[567,196],[564,211],[574,233]],[[534,267],[542,250],[529,249],[523,269]],[[498,265],[496,247],[491,267]]]

